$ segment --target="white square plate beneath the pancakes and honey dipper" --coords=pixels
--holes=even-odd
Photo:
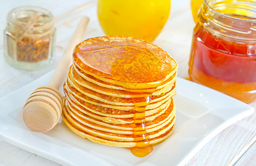
[[[77,136],[62,119],[51,131],[29,130],[22,120],[27,97],[47,85],[53,71],[0,98],[0,137],[29,152],[63,165],[184,165],[211,138],[254,109],[232,97],[180,79],[177,81],[176,122],[172,136],[144,158],[129,149],[96,144]]]

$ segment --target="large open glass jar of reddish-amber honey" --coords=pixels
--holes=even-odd
[[[194,28],[191,81],[244,102],[256,99],[256,8],[253,1],[205,0]]]

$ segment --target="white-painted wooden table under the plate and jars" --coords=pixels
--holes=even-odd
[[[154,41],[168,51],[179,63],[179,77],[188,77],[188,61],[194,22],[189,0],[172,0],[171,14],[163,32]],[[3,30],[7,13],[19,6],[41,6],[50,10],[56,22],[55,61],[48,68],[37,71],[17,70],[3,58]],[[50,0],[1,0],[0,1],[0,97],[37,79],[55,69],[65,46],[81,15],[90,17],[83,39],[104,35],[96,14],[96,0],[50,1]],[[249,104],[256,108],[256,101]],[[1,111],[1,110],[0,110]],[[194,155],[186,165],[256,165],[256,113],[224,129]],[[0,137],[1,165],[60,165],[37,154],[13,146]]]

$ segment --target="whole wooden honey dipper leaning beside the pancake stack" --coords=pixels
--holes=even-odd
[[[32,131],[46,132],[58,123],[63,106],[58,89],[66,77],[72,61],[73,49],[81,42],[88,20],[88,17],[81,18],[48,86],[38,87],[28,97],[23,107],[23,121]]]

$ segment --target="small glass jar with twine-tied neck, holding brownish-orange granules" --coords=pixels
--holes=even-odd
[[[19,7],[7,15],[4,58],[19,69],[35,70],[53,61],[54,19],[40,7]]]

